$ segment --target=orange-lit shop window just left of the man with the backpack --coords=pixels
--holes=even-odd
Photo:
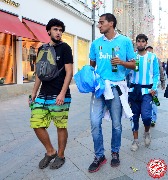
[[[41,42],[33,42],[23,38],[22,43],[22,68],[23,82],[35,80],[35,64],[38,48],[42,45]]]

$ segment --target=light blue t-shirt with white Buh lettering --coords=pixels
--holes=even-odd
[[[93,41],[90,48],[90,60],[96,61],[96,72],[104,79],[110,81],[122,81],[125,79],[126,68],[117,65],[118,71],[112,72],[112,48],[122,61],[134,59],[134,50],[131,40],[121,34],[116,34],[112,40],[102,36]]]

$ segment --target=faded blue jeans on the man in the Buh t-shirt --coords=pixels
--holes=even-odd
[[[121,146],[121,116],[122,106],[118,91],[112,88],[114,98],[112,100],[105,100],[102,95],[100,98],[95,98],[94,94],[91,97],[90,104],[90,120],[91,133],[94,142],[94,151],[97,158],[104,155],[103,134],[102,134],[102,118],[104,116],[104,108],[110,112],[112,120],[112,138],[111,138],[111,152],[119,152]]]

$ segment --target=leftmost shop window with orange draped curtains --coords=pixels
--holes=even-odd
[[[13,36],[0,33],[0,85],[15,83]]]

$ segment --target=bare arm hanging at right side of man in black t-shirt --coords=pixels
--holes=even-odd
[[[66,71],[66,76],[64,79],[64,84],[62,86],[61,92],[57,96],[57,100],[56,100],[57,105],[64,104],[65,94],[67,92],[67,89],[69,87],[69,84],[70,84],[72,76],[73,76],[73,64],[65,64],[65,71]]]

